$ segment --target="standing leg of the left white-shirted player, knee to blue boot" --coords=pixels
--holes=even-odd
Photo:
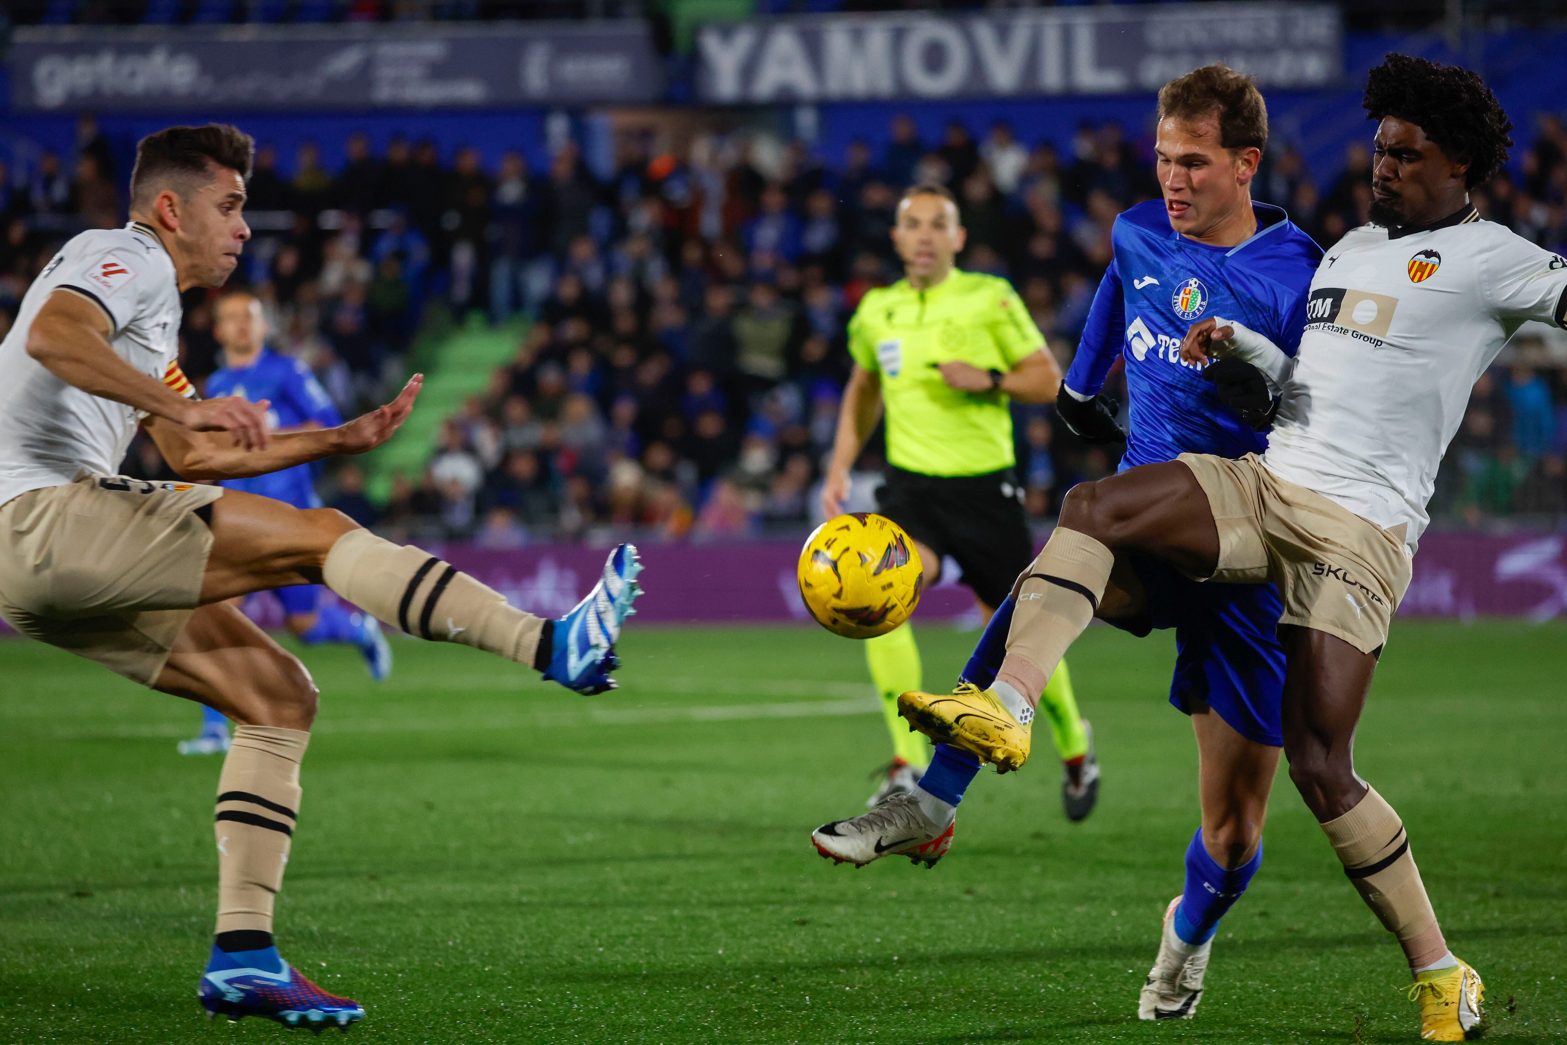
[[[299,763],[317,691],[296,658],[233,605],[196,609],[154,686],[237,722],[218,777],[218,924],[197,996],[208,1018],[348,1029],[365,1011],[293,968],[273,942],[273,907],[299,821]]]

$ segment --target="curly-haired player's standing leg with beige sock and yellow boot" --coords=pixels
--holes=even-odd
[[[1283,744],[1290,779],[1334,846],[1344,874],[1404,949],[1420,1004],[1420,1036],[1462,1042],[1484,1018],[1479,973],[1448,949],[1404,821],[1354,769],[1354,732],[1376,655],[1316,631],[1285,625]]]

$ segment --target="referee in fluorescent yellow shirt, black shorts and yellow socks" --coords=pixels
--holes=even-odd
[[[854,371],[821,508],[829,519],[843,511],[849,468],[885,409],[888,467],[878,509],[914,537],[926,584],[940,580],[943,558],[957,562],[989,622],[1034,558],[1009,401],[1053,403],[1061,368],[1011,284],[953,266],[965,238],[946,188],[917,185],[898,201],[892,241],[904,279],[867,293],[849,320]],[[912,791],[931,758],[925,736],[898,718],[898,694],[923,688],[912,627],[868,639],[865,658],[893,743],[887,779],[867,802],[874,807]],[[1097,766],[1084,772],[1092,755],[1066,664],[1040,703],[1066,763],[1067,816],[1081,819],[1098,791]]]

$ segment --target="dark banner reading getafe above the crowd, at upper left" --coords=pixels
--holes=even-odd
[[[527,25],[25,27],[13,107],[58,113],[650,102],[642,20]]]

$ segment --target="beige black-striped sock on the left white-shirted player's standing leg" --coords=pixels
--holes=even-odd
[[[218,932],[273,931],[299,818],[299,760],[310,735],[238,725],[218,777]]]

